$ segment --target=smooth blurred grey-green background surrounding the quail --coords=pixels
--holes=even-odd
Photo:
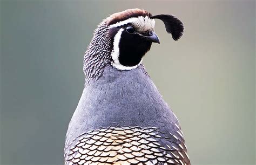
[[[178,116],[192,164],[255,164],[255,1],[1,1],[1,164],[63,164],[83,53],[111,13],[185,24],[143,60]]]

